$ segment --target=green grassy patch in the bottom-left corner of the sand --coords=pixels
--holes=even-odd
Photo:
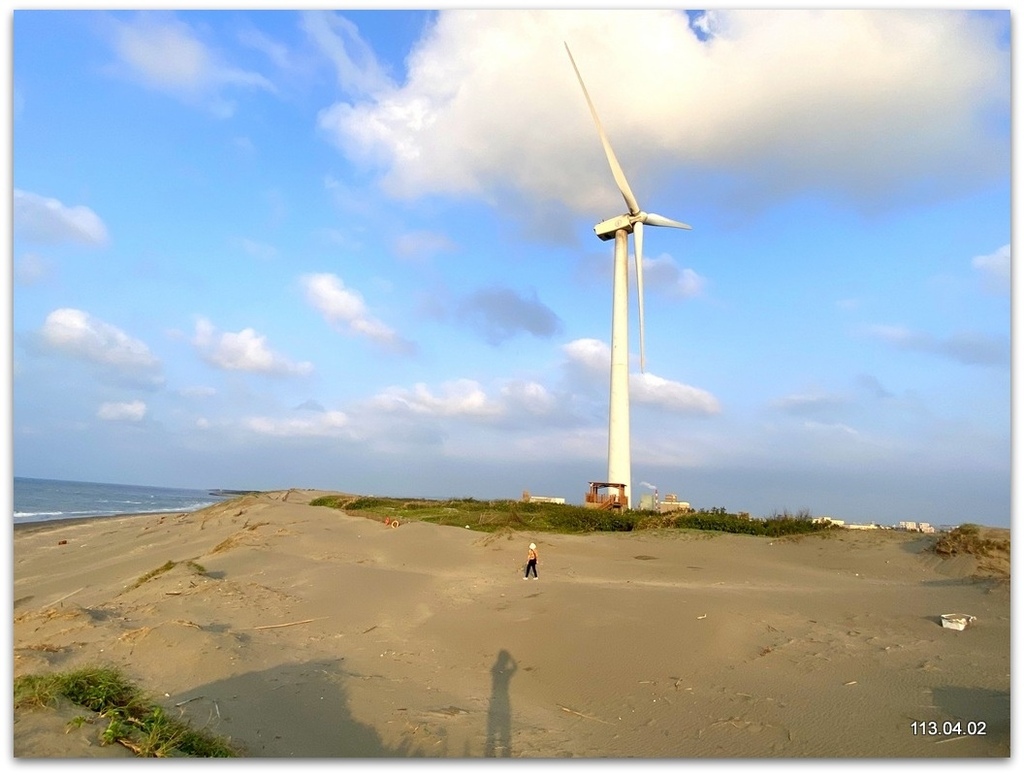
[[[60,698],[98,714],[108,721],[101,739],[121,743],[140,757],[238,757],[224,738],[198,731],[172,719],[113,668],[82,668],[69,673],[27,675],[14,679],[14,707],[53,706]],[[86,719],[75,717],[72,724]]]

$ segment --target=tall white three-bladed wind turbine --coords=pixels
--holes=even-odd
[[[597,110],[590,98],[587,86],[580,75],[575,59],[569,50],[569,44],[565,44],[565,52],[572,62],[572,70],[575,71],[577,79],[583,88],[583,94],[587,98],[591,116],[597,125],[597,133],[601,138],[601,145],[604,146],[604,155],[608,159],[608,166],[611,167],[611,175],[615,179],[615,184],[626,200],[626,207],[629,212],[624,215],[616,215],[614,218],[601,221],[594,226],[594,233],[601,240],[615,241],[613,281],[611,292],[611,376],[608,398],[608,482],[626,485],[626,507],[630,508],[631,501],[631,465],[630,465],[630,373],[629,373],[629,235],[633,234],[633,252],[636,257],[637,267],[637,307],[640,315],[640,371],[644,370],[644,341],[643,341],[643,227],[644,224],[650,226],[670,226],[672,228],[690,228],[685,223],[666,218],[664,215],[655,213],[645,213],[637,204],[636,197],[630,188],[629,182],[623,168],[615,159],[615,153],[611,149],[611,143],[604,133],[601,120],[597,117]]]

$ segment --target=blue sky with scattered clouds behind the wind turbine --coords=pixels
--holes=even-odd
[[[1009,11],[12,27],[15,476],[582,502],[624,203],[566,41],[693,226],[643,374],[631,299],[634,497],[1010,524]]]

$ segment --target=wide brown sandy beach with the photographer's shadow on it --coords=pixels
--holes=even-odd
[[[318,494],[15,528],[14,676],[119,666],[261,758],[1011,754],[1009,578],[930,536],[391,528]],[[14,756],[132,756],[80,713],[17,711]]]

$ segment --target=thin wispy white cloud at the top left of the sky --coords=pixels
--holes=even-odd
[[[225,87],[275,91],[258,73],[223,62],[196,30],[170,13],[142,12],[114,24],[114,48],[128,73],[148,87],[202,102],[222,118],[234,112]]]

